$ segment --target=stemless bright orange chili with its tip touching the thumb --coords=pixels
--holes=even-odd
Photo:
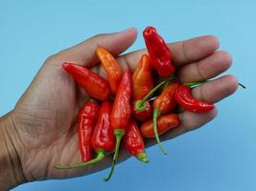
[[[102,65],[107,74],[107,79],[112,93],[116,94],[118,85],[122,78],[122,69],[111,53],[108,53],[104,48],[98,47],[96,53],[102,62]]]

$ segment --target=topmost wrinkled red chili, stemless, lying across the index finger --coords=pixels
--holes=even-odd
[[[175,66],[172,64],[172,53],[164,39],[153,27],[147,27],[143,36],[151,56],[152,66],[157,73],[162,77],[169,77],[174,74]]]

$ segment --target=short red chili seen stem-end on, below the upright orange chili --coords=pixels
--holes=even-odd
[[[141,110],[139,109],[139,107],[136,107],[136,104],[139,104],[139,102],[137,102],[135,100],[132,101],[132,103],[131,103],[132,116],[135,117],[140,122],[145,122],[145,121],[149,120],[152,116],[151,103],[149,101],[145,101],[144,102],[145,107],[143,107]]]

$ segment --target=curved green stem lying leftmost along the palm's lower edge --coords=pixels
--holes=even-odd
[[[105,152],[102,149],[99,149],[99,151],[97,151],[97,157],[95,159],[91,159],[89,161],[86,162],[81,162],[81,163],[77,163],[77,164],[72,164],[72,165],[61,165],[61,164],[56,164],[55,168],[57,169],[74,169],[74,168],[81,168],[81,167],[85,167],[91,164],[95,164],[98,163],[99,161],[101,161],[102,159],[105,159]]]

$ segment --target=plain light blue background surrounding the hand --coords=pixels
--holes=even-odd
[[[69,180],[45,180],[13,189],[30,190],[256,190],[255,43],[253,1],[0,1],[0,116],[11,111],[47,56],[91,35],[136,27],[128,50],[144,46],[142,30],[155,26],[167,41],[217,35],[233,55],[235,74],[247,89],[218,103],[211,123],[147,150],[151,163],[128,159],[108,170]],[[253,118],[254,116],[254,118]]]

